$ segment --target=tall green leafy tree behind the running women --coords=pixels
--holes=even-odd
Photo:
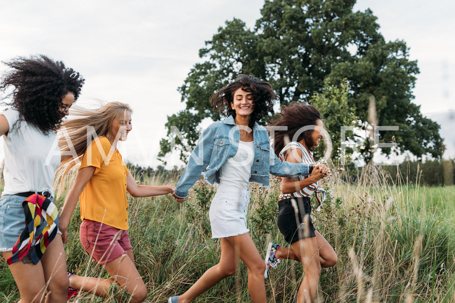
[[[253,30],[241,20],[227,21],[206,41],[199,51],[203,62],[192,68],[179,88],[187,107],[168,117],[168,137],[161,141],[160,156],[172,149],[183,151],[183,143],[194,146],[200,121],[220,119],[208,101],[212,93],[245,73],[268,81],[280,105],[311,102],[324,87],[339,85],[346,78],[348,103],[364,129],[371,126],[368,109],[373,96],[376,123],[399,126],[399,131],[381,132],[380,141],[394,136],[401,152],[440,157],[440,126],[423,117],[411,102],[417,61],[409,59],[404,41],[384,40],[371,10],[354,12],[354,4],[355,0],[266,0]],[[185,138],[176,138],[171,126]],[[370,146],[360,151],[366,161],[371,159]],[[187,155],[181,152],[182,159]]]

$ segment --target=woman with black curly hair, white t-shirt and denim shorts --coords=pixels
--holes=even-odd
[[[1,100],[10,109],[0,115],[5,147],[0,251],[19,302],[43,302],[46,291],[45,302],[66,302],[69,279],[52,187],[61,159],[56,130],[84,79],[43,55],[4,63],[9,69],[0,82]]]

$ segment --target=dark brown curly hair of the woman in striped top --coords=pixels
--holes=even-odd
[[[296,102],[291,102],[289,106],[281,106],[281,112],[275,114],[274,118],[268,126],[288,126],[287,131],[275,131],[272,146],[277,157],[286,145],[284,139],[286,136],[290,140],[302,127],[316,125],[319,120],[322,120],[321,114],[316,107],[306,103]],[[296,140],[300,141],[303,139],[310,151],[316,148],[316,146],[313,146],[313,138],[311,137],[313,131],[312,129],[303,131]]]

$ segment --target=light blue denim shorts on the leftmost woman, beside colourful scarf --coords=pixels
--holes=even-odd
[[[19,239],[20,234],[26,227],[25,214],[22,202],[27,197],[17,195],[3,195],[0,198],[0,252],[9,252]],[[54,202],[54,198],[49,198]],[[36,236],[43,232],[47,226],[45,218],[41,217],[40,225],[36,227],[35,238],[32,245],[35,244]],[[57,228],[57,233],[61,232]]]

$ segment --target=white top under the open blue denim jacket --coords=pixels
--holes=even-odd
[[[253,167],[254,142],[240,141],[234,157],[220,168],[220,186],[230,187],[234,192],[248,189]]]

